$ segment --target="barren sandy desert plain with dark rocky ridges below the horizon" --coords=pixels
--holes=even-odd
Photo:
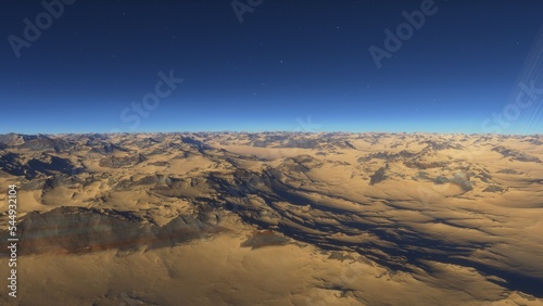
[[[0,304],[543,305],[542,161],[538,135],[2,135]]]

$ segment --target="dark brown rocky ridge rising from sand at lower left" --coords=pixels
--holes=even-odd
[[[64,206],[28,213],[18,230],[20,254],[30,255],[174,246],[219,232],[220,228],[204,216],[180,215],[157,226],[127,212]]]

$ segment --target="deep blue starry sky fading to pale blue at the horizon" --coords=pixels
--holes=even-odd
[[[540,0],[0,11],[0,132],[543,132]]]

